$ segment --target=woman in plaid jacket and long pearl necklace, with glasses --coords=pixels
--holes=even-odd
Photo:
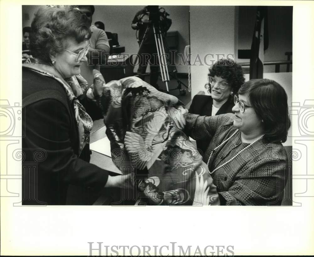
[[[234,104],[235,114],[188,114],[186,133],[209,142],[203,161],[221,204],[278,205],[287,179],[286,92],[273,80],[252,79],[241,86]]]

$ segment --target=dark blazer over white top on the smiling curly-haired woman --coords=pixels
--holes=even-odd
[[[198,114],[201,116],[212,116],[212,105],[213,105],[213,98],[211,96],[204,96],[204,95],[195,95],[192,100],[192,104],[189,109],[189,113]],[[216,115],[225,114],[225,113],[233,113],[232,107],[234,104],[231,103],[229,100],[226,101],[222,107],[218,110]],[[196,145],[198,151],[203,156],[209,142],[206,140],[196,140]]]

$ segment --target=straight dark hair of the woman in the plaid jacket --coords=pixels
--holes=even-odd
[[[274,80],[251,79],[238,91],[239,95],[246,93],[257,116],[263,120],[263,140],[266,143],[285,142],[291,122],[284,88]]]

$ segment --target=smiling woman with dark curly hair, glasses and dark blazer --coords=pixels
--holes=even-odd
[[[233,96],[243,83],[244,76],[241,65],[230,59],[220,59],[209,68],[208,83],[205,88],[211,95],[195,95],[189,112],[202,116],[233,112]],[[196,144],[203,155],[208,147],[208,142],[201,139]]]

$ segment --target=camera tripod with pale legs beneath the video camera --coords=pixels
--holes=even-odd
[[[186,88],[188,88],[180,79],[178,79],[177,77],[177,69],[176,66],[174,66],[174,70],[172,70],[170,73],[168,71],[168,64],[167,64],[167,58],[165,55],[165,47],[166,46],[166,50],[169,52],[169,47],[167,45],[166,40],[163,39],[163,35],[162,32],[160,30],[160,25],[155,25],[154,23],[150,23],[144,33],[142,42],[139,46],[139,52],[141,52],[142,46],[143,46],[143,42],[147,37],[148,31],[150,29],[153,28],[154,31],[154,38],[155,38],[155,44],[156,44],[156,49],[157,49],[157,55],[158,55],[158,61],[159,61],[159,68],[160,68],[160,76],[161,76],[161,80],[162,82],[165,83],[166,85],[166,89],[167,92],[169,92],[170,90],[179,90],[180,95],[185,95],[186,94],[186,90],[182,89],[182,85],[185,86]],[[165,41],[165,44],[164,44]],[[136,57],[137,58],[137,57]],[[137,62],[137,59],[135,60],[135,63]],[[143,75],[148,75],[150,73],[144,73],[144,74],[138,74],[137,76],[143,76]],[[178,86],[174,89],[169,89],[168,88],[168,82],[170,80],[169,74],[171,76],[171,78],[176,79]]]

